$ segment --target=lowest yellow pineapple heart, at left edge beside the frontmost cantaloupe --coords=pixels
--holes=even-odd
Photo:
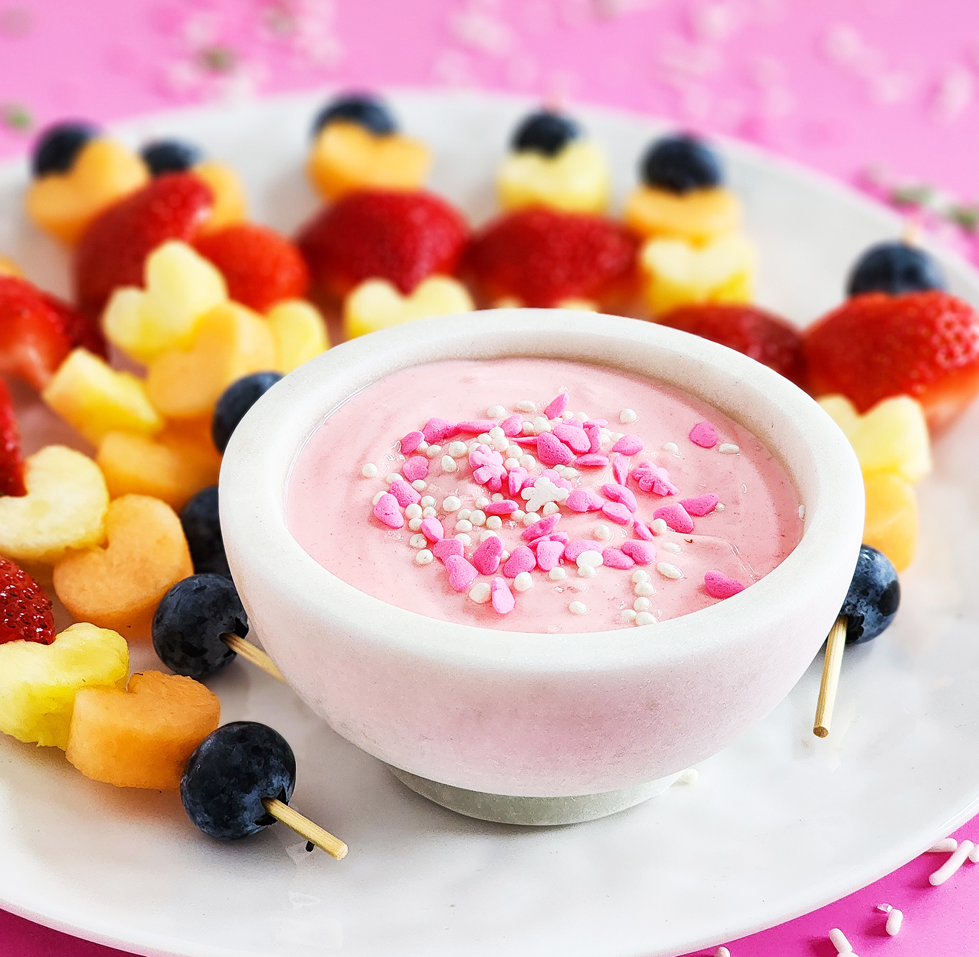
[[[129,648],[115,631],[78,623],[50,645],[0,645],[0,731],[18,741],[68,747],[81,688],[124,688]]]

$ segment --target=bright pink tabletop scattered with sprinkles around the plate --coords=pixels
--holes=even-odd
[[[0,156],[67,115],[321,84],[479,86],[672,116],[850,181],[881,167],[971,201],[977,80],[974,0],[0,0]],[[971,234],[949,238],[979,258]],[[979,840],[979,818],[960,836]],[[942,860],[735,941],[732,957],[832,957],[831,927],[862,957],[977,953],[979,867],[931,888]],[[897,937],[882,901],[905,912]],[[0,957],[115,953],[0,912]]]

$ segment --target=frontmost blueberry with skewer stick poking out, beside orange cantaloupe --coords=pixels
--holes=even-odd
[[[187,816],[218,841],[237,841],[275,823],[262,797],[289,803],[296,756],[278,731],[257,721],[224,724],[187,759],[180,799]]]

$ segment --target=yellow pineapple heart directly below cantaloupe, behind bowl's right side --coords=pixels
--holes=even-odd
[[[740,234],[697,248],[683,240],[649,240],[639,253],[646,300],[656,315],[690,302],[748,302],[755,280],[755,247]]]

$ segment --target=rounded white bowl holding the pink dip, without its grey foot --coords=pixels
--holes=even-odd
[[[795,551],[761,581],[702,611],[568,635],[405,612],[303,551],[285,524],[285,491],[303,443],[333,409],[406,366],[513,355],[657,379],[746,426],[779,456],[805,504]],[[744,355],[634,319],[500,309],[398,326],[306,363],[270,389],[232,436],[220,511],[256,635],[332,728],[430,781],[561,797],[663,778],[717,752],[781,701],[849,587],[862,488],[849,443],[816,402]]]

